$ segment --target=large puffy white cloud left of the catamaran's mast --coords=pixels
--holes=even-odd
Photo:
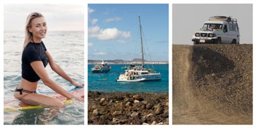
[[[123,32],[117,28],[100,29],[98,26],[93,26],[88,28],[88,36],[99,40],[117,40],[119,37],[129,38],[131,32]]]

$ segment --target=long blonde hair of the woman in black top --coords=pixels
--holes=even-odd
[[[44,15],[42,15],[42,13],[39,12],[32,12],[28,15],[27,21],[26,21],[26,28],[25,28],[25,40],[24,40],[24,44],[23,44],[23,49],[25,49],[25,47],[27,46],[28,42],[30,42],[30,39],[32,39],[32,32],[30,32],[28,30],[28,28],[31,27],[31,22],[32,20],[34,20],[34,18],[40,18],[43,17]]]

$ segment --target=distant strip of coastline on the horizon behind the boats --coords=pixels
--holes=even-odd
[[[138,65],[141,64],[141,59],[133,59],[132,61],[124,61],[122,59],[115,59],[115,60],[103,60],[104,62],[110,64],[110,65]],[[102,60],[88,60],[88,65],[94,65],[102,63]],[[168,61],[145,61],[145,64],[168,64]]]

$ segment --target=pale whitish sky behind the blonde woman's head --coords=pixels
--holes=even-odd
[[[46,19],[48,31],[84,31],[84,5],[7,4],[4,30],[24,31],[29,13],[38,11]]]

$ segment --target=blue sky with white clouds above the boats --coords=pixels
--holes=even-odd
[[[140,58],[139,15],[146,60],[168,61],[168,4],[89,4],[88,59]]]

